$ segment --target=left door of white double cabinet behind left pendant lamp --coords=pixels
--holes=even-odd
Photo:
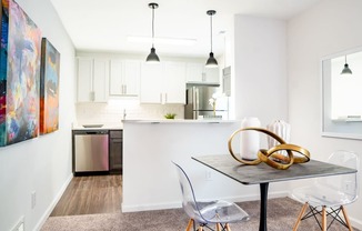
[[[162,64],[141,64],[141,103],[161,103],[162,102]]]

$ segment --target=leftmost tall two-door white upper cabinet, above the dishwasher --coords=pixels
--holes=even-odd
[[[78,102],[107,102],[108,94],[108,60],[78,58]]]

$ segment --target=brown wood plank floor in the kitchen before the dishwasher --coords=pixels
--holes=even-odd
[[[50,217],[119,212],[121,193],[120,174],[74,177]]]

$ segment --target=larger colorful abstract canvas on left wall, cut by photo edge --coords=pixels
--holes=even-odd
[[[41,32],[13,0],[1,1],[0,145],[38,137]]]

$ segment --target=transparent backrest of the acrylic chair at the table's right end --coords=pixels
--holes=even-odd
[[[346,197],[346,202],[356,200],[359,194],[358,175],[360,169],[360,161],[358,155],[350,151],[335,151],[329,157],[328,162],[336,165],[356,169],[358,173],[319,178],[316,180],[316,184],[330,188],[334,192],[343,193]]]

